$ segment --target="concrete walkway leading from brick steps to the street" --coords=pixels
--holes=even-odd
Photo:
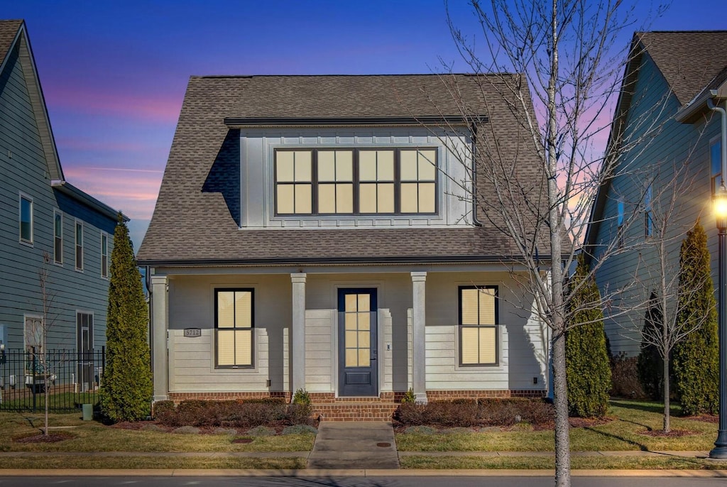
[[[309,469],[398,469],[394,430],[381,421],[321,422]]]

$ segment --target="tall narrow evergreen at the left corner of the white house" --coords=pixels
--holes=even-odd
[[[129,229],[119,214],[113,233],[108,286],[106,364],[101,381],[101,409],[111,421],[147,416],[152,398],[148,310]]]

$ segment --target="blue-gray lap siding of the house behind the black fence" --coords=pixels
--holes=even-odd
[[[116,221],[51,187],[36,116],[17,47],[0,73],[0,325],[9,349],[22,349],[25,315],[41,315],[39,270],[50,262],[52,297],[49,349],[76,348],[76,311],[94,315],[94,345],[105,344],[108,279],[100,265],[101,232],[108,233],[109,263]],[[19,240],[20,194],[33,201],[33,243]],[[54,210],[63,214],[63,264],[53,262]],[[73,265],[74,222],[84,222],[84,270]]]

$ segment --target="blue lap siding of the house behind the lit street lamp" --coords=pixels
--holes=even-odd
[[[711,209],[709,146],[719,134],[718,117],[711,116],[706,123],[700,121],[697,124],[675,121],[680,104],[670,93],[667,82],[648,54],[643,55],[638,68],[632,100],[624,137],[635,141],[643,137],[646,126],[655,130],[623,156],[621,169],[627,167],[627,170],[617,171],[611,181],[595,248],[595,259],[601,262],[596,281],[603,297],[611,302],[611,310],[614,310],[614,313],[604,310],[606,333],[614,355],[638,355],[640,329],[645,316],[643,309],[630,313],[621,313],[620,310],[643,305],[651,291],[659,289],[656,283],[659,262],[654,241],[645,237],[643,197],[648,181],[653,181],[656,219],[659,219],[660,210],[667,211],[667,205],[675,195],[675,209],[667,217],[667,236],[670,238],[667,244],[670,275],[667,279],[678,273],[681,242],[698,218],[707,232],[710,252],[716,255],[717,251],[717,230]],[[652,122],[652,119],[655,121]],[[681,172],[679,181],[682,184],[676,188],[676,193],[672,183],[675,169]],[[626,217],[624,250],[604,257],[603,249],[617,238],[619,199],[624,201]],[[716,276],[717,261],[712,259],[715,284]],[[616,290],[622,291],[614,294]],[[607,291],[611,294],[606,297]]]

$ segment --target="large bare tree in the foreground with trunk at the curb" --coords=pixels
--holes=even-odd
[[[539,318],[551,331],[555,482],[569,486],[565,334],[572,313],[601,306],[611,294],[603,293],[602,302],[572,307],[571,297],[579,293],[579,287],[563,283],[585,229],[593,223],[591,209],[598,189],[616,172],[630,171],[634,158],[622,156],[641,150],[642,142],[659,130],[658,115],[664,104],[652,102],[642,116],[628,121],[628,130],[623,113],[611,120],[623,66],[637,54],[614,50],[620,34],[632,28],[631,11],[622,1],[473,0],[471,4],[481,27],[477,41],[482,49],[459,31],[448,14],[453,39],[470,70],[483,75],[476,79],[483,84],[480,98],[485,105],[496,93],[498,102],[505,102],[508,109],[497,116],[513,117],[525,137],[513,140],[517,134],[502,133],[498,124],[481,124],[481,130],[489,133],[477,134],[477,153],[467,154],[462,162],[475,161],[475,204],[486,223],[512,241],[514,254],[526,269],[513,275],[534,297]],[[457,77],[445,74],[443,82],[457,99],[461,93]],[[467,100],[459,102],[467,119],[481,115],[469,112]],[[609,132],[604,157],[598,140]],[[533,160],[537,168],[523,170],[523,161]],[[590,273],[607,256],[625,249],[614,238],[600,251]],[[545,259],[549,268],[544,267]]]

